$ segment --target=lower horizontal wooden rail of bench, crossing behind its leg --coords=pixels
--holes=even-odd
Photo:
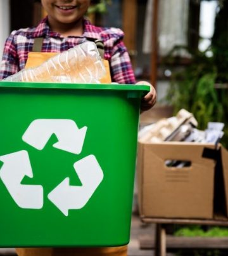
[[[144,250],[155,248],[155,238],[140,236],[139,246]],[[228,249],[228,238],[186,238],[178,236],[166,236],[166,248],[186,249]]]

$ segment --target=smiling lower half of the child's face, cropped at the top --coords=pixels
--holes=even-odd
[[[60,24],[71,24],[82,18],[90,0],[41,0],[49,19]]]

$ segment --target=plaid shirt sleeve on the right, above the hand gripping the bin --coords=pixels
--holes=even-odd
[[[110,61],[112,81],[120,84],[135,84],[136,79],[130,63],[129,53],[123,41],[117,43],[113,48]]]

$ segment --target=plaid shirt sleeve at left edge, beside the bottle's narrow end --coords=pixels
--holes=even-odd
[[[3,59],[0,64],[0,80],[19,71],[18,57],[13,42],[14,34],[15,32],[12,32],[4,44]]]

